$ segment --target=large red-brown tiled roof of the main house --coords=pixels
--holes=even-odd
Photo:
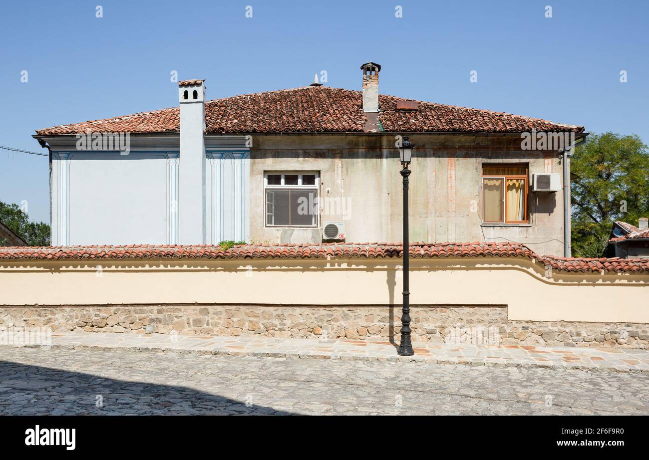
[[[201,81],[201,80],[187,80]],[[583,132],[583,127],[561,125],[522,115],[468,107],[426,103],[379,95],[379,121],[386,132]],[[205,103],[208,133],[365,132],[361,91],[304,86],[266,91]],[[397,110],[398,101],[419,104],[417,110]],[[36,131],[39,136],[90,132],[177,132],[178,107],[140,112],[101,120],[59,125]]]

